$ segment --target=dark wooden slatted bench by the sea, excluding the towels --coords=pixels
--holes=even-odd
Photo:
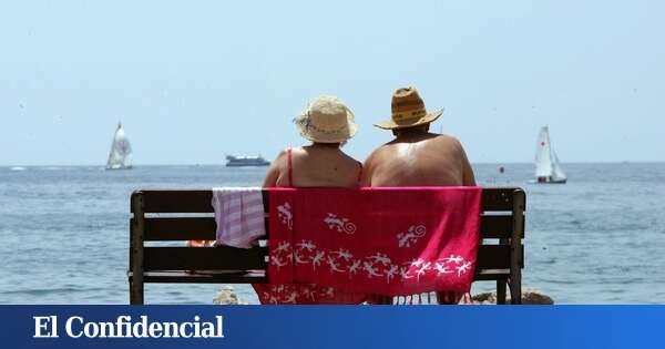
[[[267,247],[187,247],[186,240],[214,240],[212,189],[135,191],[131,197],[130,302],[144,302],[146,283],[260,284]],[[268,195],[264,192],[264,205]],[[498,304],[522,299],[525,194],[521,188],[484,188],[482,193],[481,246],[475,280],[497,281]],[[266,216],[267,219],[267,216]],[[267,226],[267,224],[266,224]],[[156,242],[181,242],[154,246]],[[153,245],[153,246],[151,246]],[[163,244],[162,244],[163,245]],[[262,244],[263,245],[263,244]],[[265,246],[265,245],[263,245]],[[247,270],[246,273],[192,273],[192,270]]]

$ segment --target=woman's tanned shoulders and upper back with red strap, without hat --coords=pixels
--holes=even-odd
[[[263,186],[289,186],[286,150],[266,174]],[[295,187],[357,187],[360,165],[340,150],[339,143],[313,143],[291,150]]]

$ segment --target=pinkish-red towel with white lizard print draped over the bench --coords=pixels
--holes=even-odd
[[[259,300],[459,297],[474,278],[480,204],[480,187],[270,189],[272,285],[255,286]]]

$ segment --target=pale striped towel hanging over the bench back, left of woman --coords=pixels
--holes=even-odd
[[[266,235],[262,188],[213,188],[213,207],[217,223],[215,245],[252,248],[258,237]]]

